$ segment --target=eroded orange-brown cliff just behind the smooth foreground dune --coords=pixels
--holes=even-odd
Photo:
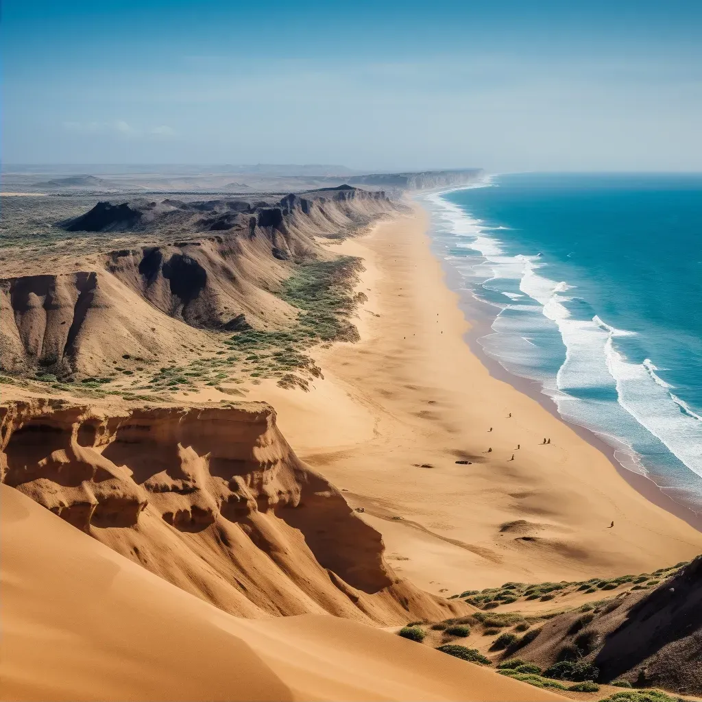
[[[0,418],[2,482],[232,614],[395,624],[457,607],[395,576],[380,534],[298,460],[270,406],[35,400]]]

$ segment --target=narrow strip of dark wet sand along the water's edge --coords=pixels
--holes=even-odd
[[[440,192],[451,192],[442,190]],[[422,204],[418,203],[418,206],[425,208]],[[426,211],[426,210],[425,210]],[[594,446],[598,451],[607,456],[610,463],[614,466],[616,472],[618,472],[621,477],[623,477],[626,482],[628,482],[637,492],[642,494],[649,502],[654,503],[658,507],[663,508],[670,514],[679,517],[684,522],[687,522],[691,527],[697,531],[702,532],[702,514],[695,512],[691,508],[675,501],[672,497],[666,495],[660,486],[654,482],[651,478],[641,473],[637,473],[633,470],[625,468],[616,458],[613,446],[608,444],[604,439],[597,435],[597,432],[578,424],[572,420],[569,420],[562,416],[553,400],[545,395],[541,387],[541,383],[538,380],[531,380],[529,378],[523,378],[515,373],[511,373],[495,358],[487,354],[479,343],[479,339],[492,331],[492,324],[496,316],[490,314],[489,310],[492,307],[487,303],[479,300],[472,291],[463,286],[463,279],[461,274],[451,266],[445,258],[438,251],[437,244],[428,232],[430,238],[430,249],[432,255],[439,261],[439,264],[444,270],[446,277],[446,285],[458,295],[459,306],[463,311],[466,322],[470,324],[470,330],[465,334],[465,343],[468,344],[470,350],[473,354],[477,355],[489,371],[490,375],[496,380],[503,380],[506,383],[512,385],[515,390],[522,392],[524,395],[531,397],[531,399],[536,400],[546,411],[548,411],[552,416],[562,421],[564,424],[569,426],[576,434],[581,438],[585,439],[586,442]]]

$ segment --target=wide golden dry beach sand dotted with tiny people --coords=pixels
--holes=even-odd
[[[431,592],[638,574],[702,552],[702,534],[583,432],[491,376],[427,230],[413,205],[331,246],[364,259],[361,341],[315,352],[324,380],[310,392],[265,380],[247,399],[277,409],[298,455],[364,510],[397,572]]]

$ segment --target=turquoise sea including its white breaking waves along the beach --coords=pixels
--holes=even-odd
[[[494,310],[485,352],[702,512],[702,176],[496,176],[424,204]]]

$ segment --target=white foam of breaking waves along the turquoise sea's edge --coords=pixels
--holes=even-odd
[[[672,386],[658,376],[655,372],[658,369],[651,359],[635,363],[623,355],[617,347],[617,339],[634,333],[616,329],[597,315],[592,319],[574,319],[567,307],[573,298],[562,294],[574,286],[545,277],[543,272],[547,264],[543,263],[541,254],[507,256],[496,234],[489,231],[481,220],[447,202],[440,193],[428,199],[437,206],[437,215],[443,220],[445,230],[458,239],[458,248],[472,249],[484,258],[484,264],[472,265],[470,279],[477,280],[482,275],[483,284],[500,280],[519,281],[521,296],[501,290],[499,283],[489,286],[514,300],[507,305],[490,304],[505,312],[533,314],[540,310],[543,317],[556,325],[566,349],[565,360],[557,371],[555,384],[552,380],[541,380],[544,392],[554,399],[559,412],[609,440],[616,448],[615,455],[626,468],[645,472],[633,445],[651,444],[654,442],[652,437],[656,437],[684,465],[702,476],[702,451],[699,448],[702,446],[702,417],[670,392]],[[501,228],[506,227],[494,227],[493,231]],[[529,298],[536,305],[525,304]],[[507,320],[502,314],[498,315],[493,326],[496,333],[484,338],[486,350],[501,362],[508,363],[512,370],[519,369],[521,364],[523,370],[517,372],[534,377],[524,363],[529,359],[538,363],[538,355],[527,353],[527,348],[535,345],[522,336],[523,330],[521,334],[517,331],[520,324],[532,323],[527,317],[522,322],[517,317],[505,324]],[[504,341],[501,342],[501,338]],[[613,394],[616,390],[616,404],[611,400],[596,399],[597,392],[601,394],[607,388]],[[588,389],[595,394],[588,394]],[[651,438],[646,439],[647,435]],[[654,452],[656,450],[654,446]]]

